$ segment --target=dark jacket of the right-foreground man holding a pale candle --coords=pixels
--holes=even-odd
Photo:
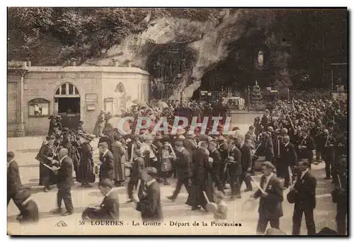
[[[265,175],[261,178],[261,188],[263,188],[264,183]],[[264,191],[268,192],[267,197],[261,197],[262,192],[259,189],[253,195],[255,198],[261,197],[258,212],[269,219],[282,217],[282,185],[275,174],[270,178]]]

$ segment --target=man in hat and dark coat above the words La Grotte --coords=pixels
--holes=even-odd
[[[157,170],[154,167],[145,168],[141,175],[146,188],[146,195],[139,197],[137,211],[141,212],[144,221],[161,221],[161,196],[159,183],[156,182]]]

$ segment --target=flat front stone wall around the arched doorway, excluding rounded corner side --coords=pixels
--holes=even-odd
[[[30,70],[29,70],[30,71]],[[26,135],[42,135],[49,129],[47,117],[29,117],[28,102],[35,98],[43,98],[50,102],[50,115],[55,115],[55,91],[63,83],[72,83],[80,95],[80,116],[84,120],[84,128],[93,130],[99,110],[103,108],[101,96],[101,73],[87,72],[39,72],[30,71],[25,76],[23,95],[23,117],[25,120]],[[98,94],[98,101],[94,103],[96,110],[86,110],[86,93]],[[91,103],[92,104],[92,103]]]

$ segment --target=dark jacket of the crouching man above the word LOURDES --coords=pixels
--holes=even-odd
[[[118,190],[111,190],[111,192],[103,198],[99,214],[100,219],[119,220]]]

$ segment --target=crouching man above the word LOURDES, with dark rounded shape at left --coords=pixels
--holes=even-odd
[[[87,207],[82,213],[83,220],[119,220],[119,199],[118,190],[114,187],[112,180],[104,178],[98,184],[98,188],[105,196],[100,207]]]

